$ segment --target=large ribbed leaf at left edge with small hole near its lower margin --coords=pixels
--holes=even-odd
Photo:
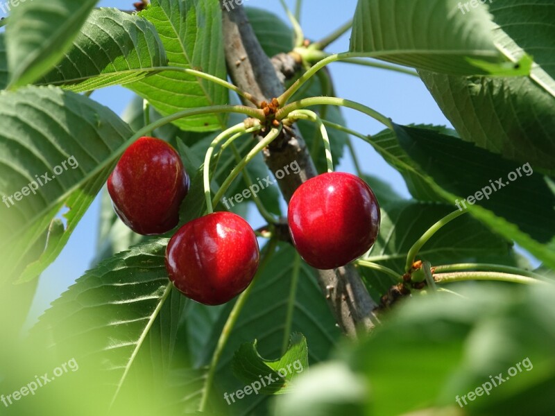
[[[0,194],[6,196],[0,206],[0,262],[5,283],[37,260],[27,254],[67,206],[66,231],[22,279],[36,277],[56,258],[131,132],[108,108],[54,87],[0,92],[0,116]]]

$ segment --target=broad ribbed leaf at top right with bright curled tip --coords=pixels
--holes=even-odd
[[[494,44],[483,4],[463,14],[458,0],[359,0],[350,51],[460,75],[527,75],[531,62],[507,62]]]

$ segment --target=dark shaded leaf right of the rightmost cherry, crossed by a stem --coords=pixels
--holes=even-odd
[[[364,259],[404,273],[407,254],[429,227],[456,208],[436,202],[398,201],[382,205],[382,223],[372,250]],[[471,216],[462,216],[439,230],[420,250],[418,258],[432,266],[446,263],[511,263],[511,246]],[[502,261],[504,260],[504,261]],[[379,299],[399,281],[360,266],[370,295]]]

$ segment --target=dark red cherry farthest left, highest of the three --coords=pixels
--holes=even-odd
[[[121,155],[108,177],[114,209],[134,232],[164,234],[179,222],[189,175],[176,150],[154,137],[141,137]]]

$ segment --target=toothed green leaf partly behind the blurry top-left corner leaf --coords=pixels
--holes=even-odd
[[[151,22],[114,8],[94,10],[61,62],[38,81],[74,92],[123,85],[167,64]]]

